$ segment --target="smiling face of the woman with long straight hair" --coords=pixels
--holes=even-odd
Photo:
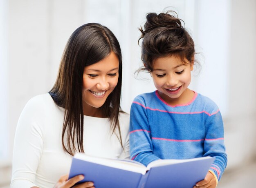
[[[94,116],[118,82],[119,59],[111,52],[103,60],[83,70],[83,111],[84,115]]]

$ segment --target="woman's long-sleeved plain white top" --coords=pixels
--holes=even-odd
[[[72,156],[61,143],[64,108],[47,93],[26,104],[16,129],[13,148],[11,188],[54,187],[69,173]],[[124,150],[111,134],[108,118],[84,116],[83,145],[87,155],[129,158],[129,115],[120,113],[119,124]]]

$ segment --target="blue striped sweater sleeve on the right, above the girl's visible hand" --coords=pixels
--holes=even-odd
[[[219,181],[227,166],[227,154],[225,153],[222,117],[218,109],[215,111],[205,120],[204,156],[216,158],[209,171]]]

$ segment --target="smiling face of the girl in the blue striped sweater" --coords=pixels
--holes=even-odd
[[[187,87],[191,81],[193,62],[184,64],[179,56],[157,58],[151,76],[162,99],[171,105],[183,104],[191,100]],[[193,96],[192,96],[193,97]]]

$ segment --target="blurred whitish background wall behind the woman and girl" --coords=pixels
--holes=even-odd
[[[121,106],[129,112],[136,95],[155,90],[148,74],[133,75],[142,65],[137,28],[146,13],[166,7],[184,20],[200,53],[202,69],[190,88],[222,112],[226,172],[255,160],[255,0],[0,0],[0,187],[9,185],[18,117],[31,97],[52,88],[71,33],[99,22],[117,36],[124,56]]]

